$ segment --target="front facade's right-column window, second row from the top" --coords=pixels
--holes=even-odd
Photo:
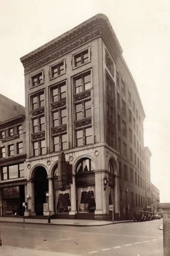
[[[91,88],[91,73],[85,73],[74,78],[75,94]]]

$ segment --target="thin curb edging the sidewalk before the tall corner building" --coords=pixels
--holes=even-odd
[[[120,224],[120,223],[129,223],[129,222],[133,222],[133,220],[129,220],[129,221],[118,221],[118,222],[113,222],[113,223],[106,223],[106,224],[97,224],[97,225],[85,225],[85,224],[60,224],[60,223],[38,223],[38,222],[23,222],[23,221],[7,221],[7,220],[0,220],[0,222],[4,222],[4,223],[20,223],[20,224],[37,224],[37,225],[54,225],[54,226],[70,226],[70,227],[99,227],[99,226],[108,226],[108,225],[114,225],[114,224]]]

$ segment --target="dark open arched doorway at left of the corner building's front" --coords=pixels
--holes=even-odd
[[[43,203],[46,203],[46,193],[48,192],[47,172],[43,167],[37,167],[34,172],[34,195],[35,213],[43,215]]]

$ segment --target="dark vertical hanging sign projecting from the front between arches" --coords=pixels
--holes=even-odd
[[[58,181],[60,183],[60,190],[66,189],[66,162],[64,153],[59,153],[58,157]]]

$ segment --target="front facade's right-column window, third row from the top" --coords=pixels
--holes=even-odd
[[[91,100],[75,105],[75,120],[92,116]]]

